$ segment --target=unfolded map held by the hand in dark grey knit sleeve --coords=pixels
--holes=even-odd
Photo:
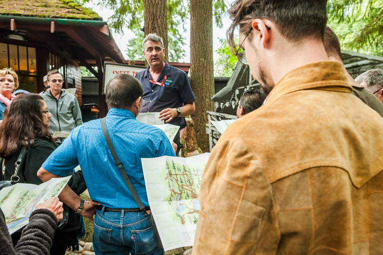
[[[37,204],[57,197],[71,176],[52,178],[40,185],[17,183],[0,191],[0,208],[5,216],[9,235],[29,222]]]

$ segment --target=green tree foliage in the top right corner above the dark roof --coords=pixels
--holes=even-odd
[[[383,56],[382,0],[329,0],[327,12],[343,49]]]

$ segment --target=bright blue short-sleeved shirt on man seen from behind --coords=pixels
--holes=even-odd
[[[169,139],[161,129],[137,121],[124,109],[110,109],[106,125],[125,171],[144,205],[149,206],[141,158],[175,156]],[[42,167],[67,176],[78,164],[92,200],[110,208],[138,208],[106,144],[100,119],[73,129]]]

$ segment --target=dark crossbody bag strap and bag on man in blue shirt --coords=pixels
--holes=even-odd
[[[102,127],[102,131],[104,133],[106,143],[108,144],[109,150],[112,153],[112,156],[113,156],[113,159],[117,165],[117,168],[120,170],[121,175],[124,178],[126,185],[128,186],[128,189],[130,190],[130,193],[132,193],[132,196],[133,196],[134,200],[136,201],[136,203],[138,204],[138,207],[140,208],[140,210],[144,213],[144,215],[146,217],[149,218],[149,222],[153,228],[154,236],[156,237],[157,246],[160,248],[164,248],[162,243],[161,243],[161,238],[160,238],[160,234],[158,233],[156,223],[154,222],[153,214],[152,213],[148,214],[146,212],[144,204],[142,203],[140,197],[138,196],[136,189],[133,187],[132,182],[130,181],[128,175],[125,172],[124,166],[122,165],[122,163],[120,162],[120,159],[117,156],[116,150],[114,149],[112,140],[110,139],[110,136],[108,133],[108,128],[106,128],[105,118],[101,119],[101,127]]]

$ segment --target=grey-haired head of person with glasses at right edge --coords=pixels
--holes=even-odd
[[[359,75],[355,81],[373,93],[383,103],[383,70],[372,69]]]

